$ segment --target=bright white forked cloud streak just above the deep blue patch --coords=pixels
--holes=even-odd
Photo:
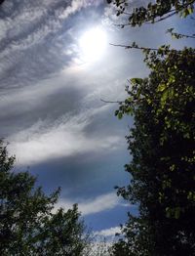
[[[19,165],[30,165],[88,151],[117,149],[121,145],[119,137],[106,134],[100,138],[88,137],[85,133],[94,116],[106,109],[103,106],[84,109],[78,114],[69,112],[54,123],[39,120],[7,138],[9,151],[17,155]]]

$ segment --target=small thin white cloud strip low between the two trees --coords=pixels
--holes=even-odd
[[[72,202],[68,199],[61,198],[59,199],[59,203],[57,204],[55,209],[57,210],[59,207],[62,207],[64,209],[71,208],[72,204],[75,203],[75,201],[76,200]],[[114,192],[110,192],[98,195],[95,198],[92,197],[87,200],[78,200],[76,202],[78,203],[79,211],[81,211],[82,215],[85,216],[113,209],[119,204],[119,201],[119,197]]]

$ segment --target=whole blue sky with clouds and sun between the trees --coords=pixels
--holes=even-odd
[[[132,1],[134,8],[145,1]],[[0,7],[0,137],[17,157],[15,171],[37,177],[44,192],[61,187],[58,207],[78,203],[96,234],[113,235],[137,207],[116,195],[130,177],[125,136],[133,118],[118,120],[125,86],[148,70],[137,50],[113,44],[176,48],[170,27],[194,32],[176,17],[121,29],[116,11],[101,0],[6,0]]]

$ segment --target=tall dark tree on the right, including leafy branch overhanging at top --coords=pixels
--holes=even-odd
[[[124,13],[125,1],[117,3]],[[135,9],[127,24],[185,17],[193,3],[159,0]],[[132,114],[135,120],[127,136],[131,182],[118,194],[136,203],[139,214],[129,213],[113,255],[195,255],[195,49],[124,47],[143,50],[151,72],[131,79],[128,98],[116,111],[119,118]]]

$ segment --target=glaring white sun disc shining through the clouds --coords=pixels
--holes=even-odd
[[[107,38],[100,27],[87,30],[79,39],[80,56],[84,62],[96,62],[105,53]]]

